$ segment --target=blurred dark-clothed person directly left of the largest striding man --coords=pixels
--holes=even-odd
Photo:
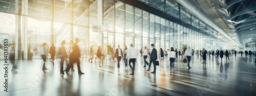
[[[61,43],[61,46],[59,47],[59,50],[58,50],[58,55],[60,57],[60,74],[62,74],[62,75],[64,75],[63,63],[64,63],[65,58],[68,57],[65,46],[64,46],[65,44],[66,44],[66,41],[63,40]]]

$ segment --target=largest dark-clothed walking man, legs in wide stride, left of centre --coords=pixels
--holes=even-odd
[[[84,74],[81,72],[81,69],[80,69],[80,60],[79,60],[80,59],[80,50],[79,50],[79,47],[77,44],[78,42],[79,42],[79,39],[76,38],[76,42],[71,47],[70,55],[69,55],[70,64],[67,66],[67,69],[66,69],[67,74],[71,68],[71,65],[73,65],[75,62],[77,63],[78,74]]]

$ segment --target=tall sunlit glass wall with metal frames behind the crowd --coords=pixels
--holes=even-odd
[[[84,57],[91,45],[94,49],[104,45],[106,50],[106,44],[120,45],[122,49],[124,45],[129,48],[130,44],[134,44],[136,49],[144,46],[151,49],[150,44],[155,44],[157,50],[162,48],[165,51],[169,47],[181,49],[182,44],[194,50],[202,50],[203,47],[207,50],[222,49],[219,39],[224,38],[223,35],[180,10],[174,3],[166,0],[141,1],[218,36],[218,39],[117,0],[22,0],[20,12],[15,9],[19,6],[16,1],[5,2],[12,5],[0,9],[0,50],[3,50],[3,40],[8,39],[9,46],[15,44],[16,59],[40,59],[38,49],[42,43],[47,43],[48,48],[54,44],[58,50],[65,40],[69,51],[70,42],[75,42],[76,38],[80,38],[79,47]],[[0,55],[3,55],[2,52]]]

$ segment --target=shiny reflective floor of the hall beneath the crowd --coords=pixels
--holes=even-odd
[[[166,60],[162,68],[157,66],[156,74],[151,74],[145,71],[148,66],[144,68],[144,61],[138,57],[134,76],[123,61],[118,69],[117,62],[111,60],[105,60],[104,66],[99,67],[98,61],[89,63],[88,58],[84,58],[81,60],[84,75],[78,75],[75,64],[74,72],[62,76],[59,59],[54,61],[55,65],[47,60],[46,71],[41,70],[40,59],[18,60],[18,73],[9,74],[8,92],[1,86],[0,95],[255,95],[254,59],[238,56],[230,57],[229,61],[223,58],[221,62],[207,57],[206,64],[202,64],[200,57],[195,57],[191,60],[191,69],[182,59],[176,59],[172,70]],[[1,82],[4,82],[3,76]]]

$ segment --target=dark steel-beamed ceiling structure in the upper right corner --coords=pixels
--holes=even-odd
[[[193,0],[234,41],[256,41],[255,0]]]

